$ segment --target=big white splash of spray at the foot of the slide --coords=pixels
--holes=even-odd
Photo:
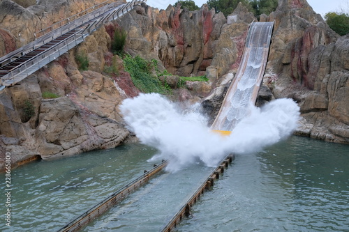
[[[142,144],[159,150],[154,160],[169,160],[168,171],[179,171],[195,162],[215,166],[228,153],[251,153],[288,137],[297,128],[299,107],[290,99],[250,106],[229,137],[211,132],[200,105],[183,109],[158,93],[141,93],[122,102],[121,114],[128,129]]]

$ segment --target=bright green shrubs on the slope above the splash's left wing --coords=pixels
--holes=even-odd
[[[170,88],[163,86],[160,79],[151,72],[157,68],[156,60],[147,61],[140,56],[124,57],[124,67],[126,72],[130,73],[133,84],[143,93],[161,93],[169,94]]]

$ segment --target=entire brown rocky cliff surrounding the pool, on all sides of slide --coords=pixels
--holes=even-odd
[[[42,1],[29,8],[10,0],[0,4],[0,52],[6,54],[32,40],[33,32],[49,22],[62,20],[93,2]],[[52,10],[54,14],[50,14]],[[206,5],[194,12],[172,6],[166,10],[138,6],[0,93],[1,154],[11,152],[16,165],[38,156],[49,159],[112,148],[130,138],[118,105],[139,91],[124,72],[121,59],[109,52],[119,26],[128,31],[128,53],[158,59],[159,68],[174,75],[207,75],[209,82],[188,82],[186,88],[174,89],[174,99],[202,101],[214,118],[239,66],[248,24],[253,20],[241,4],[228,19]],[[280,0],[276,11],[260,20],[274,20],[275,26],[258,102],[293,98],[302,109],[298,134],[348,143],[349,36],[336,35],[305,0]],[[75,55],[82,53],[89,58],[88,71],[80,71],[75,61]],[[107,75],[103,70],[113,62],[118,73]],[[44,92],[59,98],[43,99]]]

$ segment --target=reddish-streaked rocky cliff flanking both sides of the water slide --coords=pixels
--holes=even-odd
[[[234,18],[238,20],[231,20]],[[174,74],[205,73],[212,89],[223,83],[203,102],[214,118],[222,90],[229,84],[227,78],[234,76],[239,65],[248,24],[253,20],[241,4],[228,20],[205,5],[194,12],[143,6],[119,24],[138,30],[137,36],[129,36],[144,43],[130,42],[130,49],[156,54]],[[348,35],[339,38],[305,0],[280,0],[276,11],[260,20],[275,22],[262,91],[268,86],[273,98],[298,102],[302,120],[297,134],[348,143]],[[272,98],[269,93],[264,96]]]

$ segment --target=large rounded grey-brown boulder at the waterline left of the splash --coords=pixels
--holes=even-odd
[[[115,121],[94,114],[83,114],[66,97],[42,103],[36,136],[37,150],[43,159],[75,155],[97,148],[112,148],[129,134]]]

